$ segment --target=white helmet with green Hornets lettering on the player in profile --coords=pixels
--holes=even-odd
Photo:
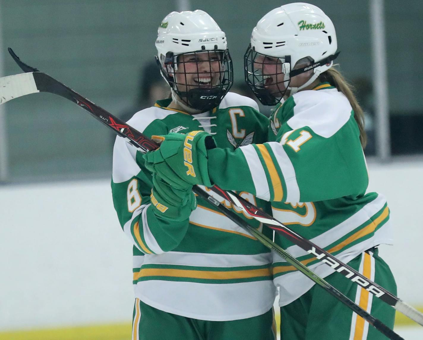
[[[275,105],[287,90],[294,94],[329,69],[339,54],[337,48],[335,27],[319,7],[309,3],[280,6],[262,17],[253,29],[244,56],[245,80],[264,105]],[[285,83],[280,94],[266,91],[256,68],[259,56],[279,59]],[[295,64],[304,58],[308,58],[308,65],[294,70]],[[313,76],[304,85],[289,87],[291,77],[311,69]]]

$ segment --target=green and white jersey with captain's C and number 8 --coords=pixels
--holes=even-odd
[[[228,93],[218,108],[195,115],[167,108],[169,104],[170,99],[158,101],[135,113],[128,124],[148,137],[205,130],[219,147],[232,151],[266,141],[268,119],[250,98]],[[134,245],[135,296],[159,310],[201,320],[237,320],[267,312],[275,300],[269,249],[202,198],[197,198],[189,223],[164,224],[153,213],[151,186],[141,153],[117,137],[113,202]],[[239,194],[270,211],[268,202],[245,191]],[[269,229],[264,232],[271,235]]]

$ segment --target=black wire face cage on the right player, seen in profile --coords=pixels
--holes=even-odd
[[[263,105],[276,105],[287,91],[291,78],[284,80],[282,63],[290,59],[264,55],[248,46],[244,55],[245,82]]]

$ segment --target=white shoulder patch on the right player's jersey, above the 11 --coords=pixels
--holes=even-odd
[[[300,91],[293,99],[294,116],[287,122],[293,130],[308,126],[318,135],[329,138],[351,117],[351,104],[336,88]]]

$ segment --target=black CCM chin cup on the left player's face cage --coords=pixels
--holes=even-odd
[[[222,88],[192,88],[188,92],[182,92],[183,97],[186,97],[188,106],[202,112],[209,111],[217,107],[226,91]]]

